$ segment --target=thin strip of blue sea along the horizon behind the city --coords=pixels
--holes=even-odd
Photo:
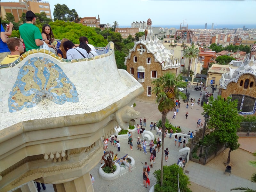
[[[243,28],[245,25],[245,28],[248,29],[255,29],[256,24],[214,24],[213,29],[223,29],[223,28],[228,28],[228,29],[237,29],[237,28]],[[182,27],[183,25],[181,25]],[[186,25],[187,26],[187,25]],[[176,28],[179,29],[180,25],[152,25],[152,27],[162,27],[162,28]],[[201,25],[188,25],[188,29],[204,29],[205,24]],[[131,25],[120,25],[119,28],[131,28]],[[207,24],[207,29],[211,29],[212,24]]]

